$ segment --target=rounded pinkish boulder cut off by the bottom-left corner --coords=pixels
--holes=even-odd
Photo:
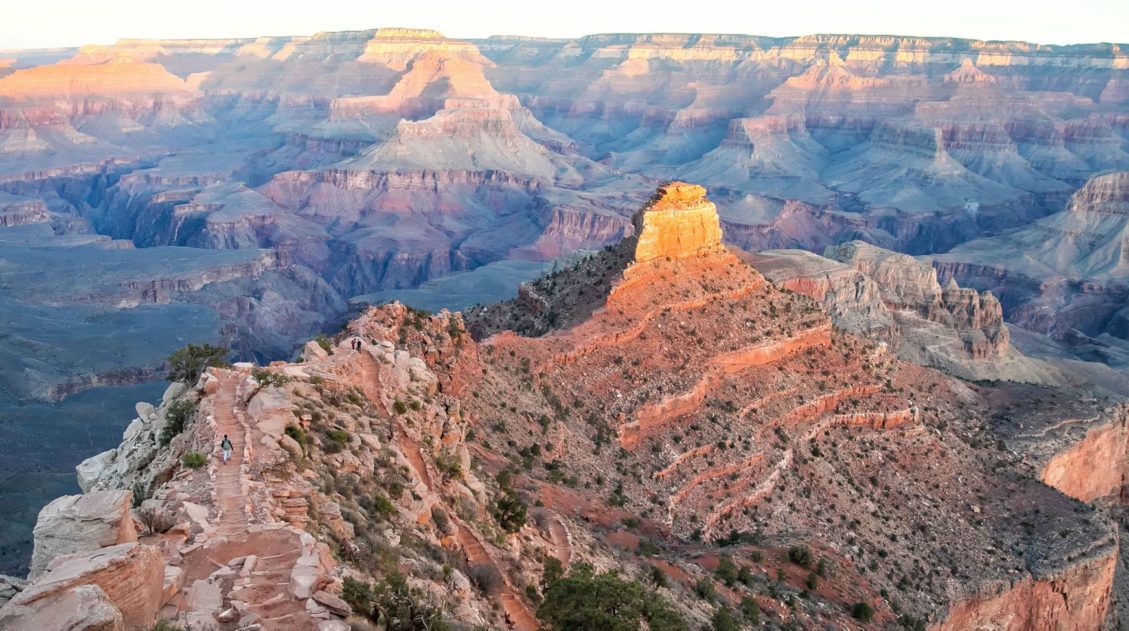
[[[122,612],[97,585],[79,585],[0,608],[5,631],[125,631]]]

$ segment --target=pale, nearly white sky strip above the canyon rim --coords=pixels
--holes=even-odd
[[[309,35],[380,26],[452,37],[593,33],[894,34],[1129,42],[1129,0],[3,0],[0,50],[121,37]]]

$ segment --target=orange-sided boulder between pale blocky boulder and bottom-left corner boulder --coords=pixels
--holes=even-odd
[[[5,607],[43,608],[43,601],[65,597],[80,586],[97,586],[119,612],[125,629],[146,628],[160,608],[165,560],[150,545],[123,543],[93,552],[59,556]],[[8,629],[3,624],[0,628]],[[41,626],[37,631],[54,629]],[[95,628],[97,629],[97,628]],[[114,629],[107,626],[106,629]]]

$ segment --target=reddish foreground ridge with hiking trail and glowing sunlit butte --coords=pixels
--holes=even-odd
[[[300,362],[208,369],[139,404],[79,466],[86,494],[41,514],[42,570],[0,621],[97,604],[332,629],[366,613],[356,581],[403,572],[420,615],[532,630],[553,615],[552,559],[658,581],[664,629],[741,602],[772,626],[854,628],[860,603],[884,626],[1115,623],[1117,527],[1082,501],[1115,473],[1054,472],[1123,445],[1079,437],[1071,411],[1110,432],[1122,407],[971,385],[856,338],[724,245],[701,186],[665,184],[633,225],[465,321],[374,307]],[[1033,427],[1017,405],[1039,405]],[[212,457],[187,468],[192,450]],[[168,527],[122,529],[131,493]]]

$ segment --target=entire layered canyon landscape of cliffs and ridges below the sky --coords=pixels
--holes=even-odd
[[[694,628],[744,596],[781,626],[867,603],[1115,628],[1127,50],[379,28],[3,52],[0,572],[79,487],[175,525],[0,578],[26,594],[0,626],[340,629],[344,578],[395,567],[532,629],[553,556],[664,572]],[[240,362],[161,397],[189,342]],[[130,397],[160,403],[129,423]],[[217,432],[233,466],[182,463]],[[721,558],[755,588],[695,596]]]

